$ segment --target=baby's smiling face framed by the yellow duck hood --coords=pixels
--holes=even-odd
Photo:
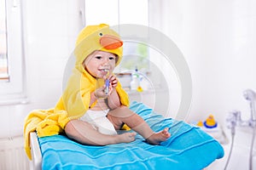
[[[95,51],[84,60],[84,69],[96,78],[107,76],[108,71],[113,72],[116,55],[105,51]]]

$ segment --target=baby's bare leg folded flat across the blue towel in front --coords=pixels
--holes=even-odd
[[[129,143],[135,140],[136,133],[123,133],[119,135],[107,135],[96,131],[88,122],[72,120],[65,127],[67,136],[82,144],[107,145]]]

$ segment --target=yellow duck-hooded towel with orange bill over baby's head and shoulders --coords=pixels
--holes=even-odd
[[[55,106],[55,111],[65,110],[70,119],[77,119],[84,115],[90,106],[90,94],[96,90],[96,78],[84,70],[83,62],[92,52],[102,50],[116,54],[116,65],[122,59],[123,42],[119,35],[106,24],[87,26],[80,33],[76,42],[74,54],[76,57],[73,75],[67,82],[61,99]],[[121,88],[116,87],[122,105],[129,105],[128,95]],[[92,105],[93,106],[93,105]]]

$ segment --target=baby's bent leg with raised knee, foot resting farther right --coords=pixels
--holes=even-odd
[[[168,128],[165,128],[158,133],[154,133],[141,116],[138,116],[126,106],[120,106],[113,111],[109,111],[108,119],[110,122],[113,122],[116,129],[120,129],[125,123],[128,127],[131,127],[134,131],[141,134],[149,144],[160,144],[160,142],[166,141],[166,139],[171,136],[168,132]]]

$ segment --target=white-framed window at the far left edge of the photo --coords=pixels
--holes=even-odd
[[[24,98],[21,1],[0,0],[0,105]]]

